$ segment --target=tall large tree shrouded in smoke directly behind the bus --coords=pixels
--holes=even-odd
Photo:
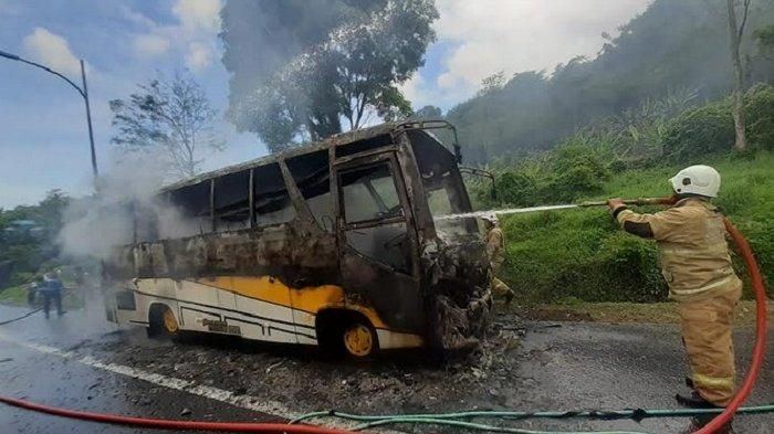
[[[432,0],[231,0],[221,17],[227,119],[280,151],[408,117],[398,85],[423,64],[438,11]]]

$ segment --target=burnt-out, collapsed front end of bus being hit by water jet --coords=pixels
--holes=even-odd
[[[416,202],[426,204],[429,215],[418,222],[425,234],[420,264],[428,343],[444,351],[472,349],[484,338],[492,309],[491,265],[480,222],[470,214],[459,156],[421,127],[407,136],[425,195]]]

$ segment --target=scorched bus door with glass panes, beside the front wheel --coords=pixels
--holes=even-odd
[[[395,152],[346,159],[334,173],[347,297],[374,307],[390,329],[420,332],[418,239]]]

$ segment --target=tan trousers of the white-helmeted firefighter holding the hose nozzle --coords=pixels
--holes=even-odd
[[[698,301],[680,301],[682,339],[693,387],[707,401],[725,406],[735,391],[731,328],[734,307],[742,295],[736,288]]]

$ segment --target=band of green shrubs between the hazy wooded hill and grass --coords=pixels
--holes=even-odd
[[[493,159],[498,198],[484,182],[472,182],[480,207],[562,203],[602,192],[610,173],[665,163],[699,163],[731,151],[734,126],[729,98],[702,106],[682,98],[647,100],[639,108],[565,138],[553,151],[521,159]],[[774,149],[774,86],[760,84],[745,95],[751,151]],[[662,114],[653,114],[662,107]],[[688,107],[676,113],[674,107]]]

